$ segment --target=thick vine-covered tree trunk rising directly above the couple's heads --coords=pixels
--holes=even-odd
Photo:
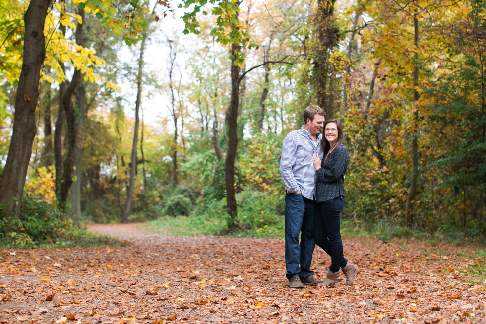
[[[317,104],[324,108],[326,118],[333,118],[334,104],[329,91],[329,58],[336,46],[339,30],[334,26],[334,3],[336,0],[318,0],[315,23],[317,29],[318,48],[314,60],[315,86]]]

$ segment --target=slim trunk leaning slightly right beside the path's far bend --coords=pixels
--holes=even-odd
[[[133,131],[133,145],[131,148],[131,165],[130,165],[130,184],[128,185],[128,191],[125,202],[125,209],[123,210],[122,223],[128,223],[128,215],[131,211],[131,202],[133,200],[133,191],[135,188],[135,173],[137,169],[137,142],[138,142],[138,127],[139,117],[138,112],[142,102],[142,71],[143,71],[143,52],[145,50],[145,42],[147,40],[147,34],[143,35],[142,42],[140,44],[140,57],[138,58],[138,75],[137,75],[137,99],[135,101],[135,130]]]

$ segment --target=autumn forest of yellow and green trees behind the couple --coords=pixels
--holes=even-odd
[[[0,12],[2,245],[176,219],[283,237],[282,142],[311,104],[343,124],[349,233],[486,234],[485,1],[2,0]]]

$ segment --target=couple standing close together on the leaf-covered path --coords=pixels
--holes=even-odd
[[[343,256],[339,215],[344,207],[344,177],[348,150],[341,123],[325,120],[316,105],[304,110],[304,125],[284,140],[280,173],[285,183],[285,265],[291,288],[304,284],[333,287],[341,281],[339,268],[350,285],[360,271]],[[324,129],[324,138],[321,135]],[[299,233],[302,232],[299,243]],[[315,243],[314,243],[315,242]],[[324,281],[310,270],[314,246],[331,256]]]

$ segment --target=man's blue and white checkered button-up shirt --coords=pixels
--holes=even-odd
[[[302,192],[302,195],[314,200],[316,171],[312,162],[312,153],[317,152],[322,160],[322,135],[317,134],[317,142],[310,137],[304,126],[287,134],[282,146],[280,174],[287,193]]]

